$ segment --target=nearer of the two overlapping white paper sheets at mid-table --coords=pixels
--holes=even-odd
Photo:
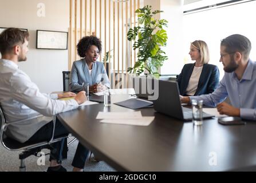
[[[107,124],[119,124],[119,125],[137,125],[137,126],[148,126],[155,119],[155,117],[142,117],[140,119],[115,119],[115,120],[101,120],[102,123]]]

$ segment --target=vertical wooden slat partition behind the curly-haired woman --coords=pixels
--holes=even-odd
[[[132,49],[133,42],[127,40],[127,33],[129,28],[137,26],[135,10],[140,7],[140,0],[77,1],[69,0],[69,70],[73,62],[80,59],[76,47],[78,41],[86,35],[96,35],[103,43],[99,61],[104,57],[105,67],[109,51],[107,72],[111,87],[116,87],[119,81],[117,87],[128,87],[127,69],[137,58]]]

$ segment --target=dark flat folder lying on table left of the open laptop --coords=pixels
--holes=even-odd
[[[126,101],[117,102],[116,105],[123,106],[125,108],[130,109],[141,109],[141,108],[151,108],[153,107],[153,102],[151,101],[145,101],[138,98],[131,98]]]

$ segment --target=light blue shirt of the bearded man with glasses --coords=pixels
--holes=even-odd
[[[217,89],[207,95],[190,97],[190,100],[203,100],[203,104],[215,107],[229,97],[231,105],[240,109],[240,116],[256,120],[256,62],[249,59],[242,79],[237,74],[225,73]]]

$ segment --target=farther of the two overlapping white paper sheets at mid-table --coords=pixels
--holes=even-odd
[[[99,112],[96,119],[97,120],[133,120],[141,119],[141,112]]]

